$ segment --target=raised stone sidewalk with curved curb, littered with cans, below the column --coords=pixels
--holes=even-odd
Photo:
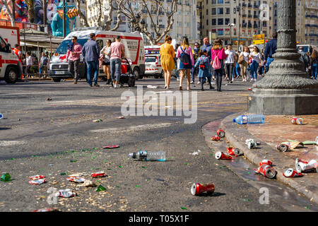
[[[273,162],[277,171],[276,179],[293,187],[296,191],[310,198],[310,201],[318,203],[318,174],[317,172],[305,173],[304,177],[287,178],[283,176],[285,169],[295,169],[297,157],[305,160],[318,160],[317,145],[305,145],[305,148],[297,148],[290,152],[281,153],[274,147],[278,143],[288,139],[297,141],[314,141],[318,136],[317,116],[304,116],[304,125],[290,124],[291,117],[265,116],[264,124],[239,125],[232,119],[240,114],[232,114],[225,117],[220,124],[225,131],[225,137],[235,147],[240,148],[245,157],[258,165],[261,160],[267,159]],[[252,138],[260,141],[257,149],[248,149],[245,141]]]

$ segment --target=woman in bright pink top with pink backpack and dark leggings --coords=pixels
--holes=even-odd
[[[222,40],[218,39],[214,41],[213,47],[211,49],[211,66],[214,69],[216,76],[216,85],[218,92],[221,92],[222,76],[224,69],[224,60],[226,59],[225,50],[222,46]]]

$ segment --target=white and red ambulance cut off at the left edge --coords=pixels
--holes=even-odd
[[[11,50],[20,44],[19,28],[0,26],[0,80],[16,83],[22,75],[22,65]]]

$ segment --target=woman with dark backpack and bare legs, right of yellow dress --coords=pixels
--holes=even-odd
[[[190,88],[191,74],[190,71],[194,66],[194,58],[192,54],[192,48],[189,45],[189,40],[187,37],[183,37],[181,46],[177,51],[177,58],[180,59],[179,69],[180,69],[180,85],[179,90],[182,90],[182,80],[184,76],[187,76],[187,90]]]

